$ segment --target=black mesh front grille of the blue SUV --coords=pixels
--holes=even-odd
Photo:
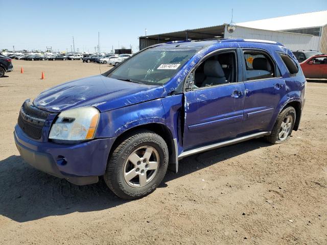
[[[40,139],[45,119],[49,112],[37,109],[29,102],[22,105],[18,116],[18,126],[33,139]]]

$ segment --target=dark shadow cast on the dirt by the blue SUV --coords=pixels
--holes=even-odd
[[[159,188],[166,187],[168,181],[269,145],[254,139],[186,157],[180,161],[178,173],[168,171]],[[0,161],[0,197],[0,215],[16,222],[104,210],[129,202],[116,197],[102,178],[97,184],[77,186],[38,171],[15,155]]]

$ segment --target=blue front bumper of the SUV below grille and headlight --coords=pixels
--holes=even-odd
[[[78,144],[39,142],[29,138],[18,125],[14,138],[20,156],[30,165],[77,185],[96,183],[104,175],[115,138],[95,139]]]

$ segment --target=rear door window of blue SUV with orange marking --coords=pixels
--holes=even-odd
[[[272,60],[260,51],[244,51],[246,80],[274,78],[275,69]]]

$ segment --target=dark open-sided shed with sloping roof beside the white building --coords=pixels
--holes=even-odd
[[[169,32],[169,33],[162,33],[162,34],[155,34],[155,35],[147,35],[141,36],[140,39],[152,39],[152,40],[171,40],[171,41],[178,41],[178,40],[185,40],[186,38],[189,40],[201,40],[201,39],[209,39],[209,38],[223,38],[225,25],[222,24],[221,26],[213,26],[213,27],[205,27],[205,28],[198,28],[198,29],[188,29],[178,32]]]

